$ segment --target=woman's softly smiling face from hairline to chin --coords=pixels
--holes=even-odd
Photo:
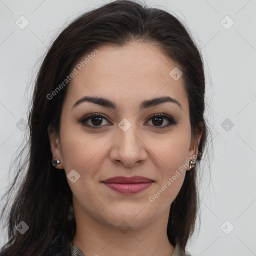
[[[152,44],[103,46],[92,55],[68,85],[59,136],[49,133],[53,159],[65,169],[75,214],[108,226],[126,221],[140,227],[169,211],[189,171],[180,166],[197,151],[184,83],[169,74],[176,63]],[[112,103],[77,102],[84,96]],[[174,100],[152,101],[158,97]],[[134,175],[153,181],[112,184],[122,190],[102,182]]]

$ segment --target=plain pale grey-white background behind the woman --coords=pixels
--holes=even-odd
[[[25,134],[16,123],[27,120],[36,61],[67,22],[103,3],[0,0],[0,196],[11,181],[9,165]],[[187,251],[192,256],[256,255],[256,0],[146,3],[185,22],[204,58],[205,116],[213,134],[213,161],[210,170],[207,164],[202,170],[201,228],[197,219],[198,235],[194,234]],[[15,24],[21,15],[29,21],[24,29]],[[234,21],[228,29],[223,26],[231,24],[226,15]],[[228,130],[222,123],[226,118],[233,123]],[[231,225],[234,229],[224,233]],[[1,229],[0,246],[4,237]]]

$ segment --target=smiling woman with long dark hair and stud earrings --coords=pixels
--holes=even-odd
[[[72,21],[36,77],[1,255],[190,255],[204,87],[166,11],[117,0]]]

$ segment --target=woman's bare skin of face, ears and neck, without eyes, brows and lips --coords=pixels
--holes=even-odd
[[[169,256],[174,250],[166,234],[169,208],[189,167],[179,171],[176,180],[154,202],[148,198],[197,152],[196,141],[191,139],[182,76],[174,80],[169,75],[176,63],[153,44],[131,42],[98,50],[70,81],[60,133],[49,131],[53,159],[60,160],[56,168],[64,168],[66,174],[75,169],[80,175],[74,183],[67,179],[76,220],[72,244],[84,255]],[[92,102],[72,108],[85,95],[107,98],[117,109]],[[139,110],[142,100],[158,96],[175,98],[182,109],[165,102]],[[77,121],[90,113],[105,115],[101,122],[95,118],[86,121],[91,126],[98,123],[99,128],[85,127]],[[178,123],[159,128],[169,121],[164,117],[157,126],[151,115],[158,113]],[[131,124],[126,131],[118,126],[123,118]],[[200,137],[198,134],[197,143]],[[100,182],[112,176],[133,175],[155,182],[132,195],[120,194]],[[125,233],[118,228],[123,221],[129,225]]]

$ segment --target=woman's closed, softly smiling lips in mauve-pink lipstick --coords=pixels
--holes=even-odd
[[[138,193],[148,188],[154,180],[142,176],[116,176],[101,181],[110,189],[122,194]]]

